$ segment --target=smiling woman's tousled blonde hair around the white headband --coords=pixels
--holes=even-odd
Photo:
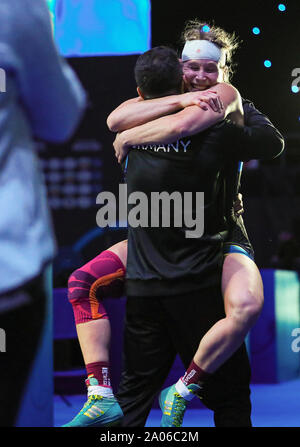
[[[207,28],[204,28],[207,27]],[[204,28],[204,29],[203,29]],[[242,43],[236,34],[228,33],[224,29],[215,26],[214,23],[208,23],[198,19],[186,22],[182,32],[181,41],[184,45],[187,40],[209,40],[210,42],[223,49],[226,54],[226,63],[224,67],[224,80],[228,82],[234,73],[236,63],[233,63],[232,56]]]

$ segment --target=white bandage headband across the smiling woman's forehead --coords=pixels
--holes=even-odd
[[[221,66],[225,65],[225,51],[222,51],[217,45],[209,40],[187,40],[182,50],[182,62],[191,59],[209,59],[220,62]]]

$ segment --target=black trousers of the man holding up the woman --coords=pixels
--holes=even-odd
[[[178,353],[187,368],[199,342],[224,318],[219,287],[169,297],[127,298],[123,371],[117,394],[123,425],[145,425]],[[179,377],[178,377],[179,378]],[[250,365],[245,345],[206,383],[202,402],[217,427],[250,427]]]

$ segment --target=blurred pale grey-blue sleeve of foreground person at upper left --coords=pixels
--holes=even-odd
[[[6,34],[0,31],[0,61],[18,83],[33,134],[48,141],[65,141],[84,113],[86,94],[58,54],[46,2],[1,2],[10,22]]]

